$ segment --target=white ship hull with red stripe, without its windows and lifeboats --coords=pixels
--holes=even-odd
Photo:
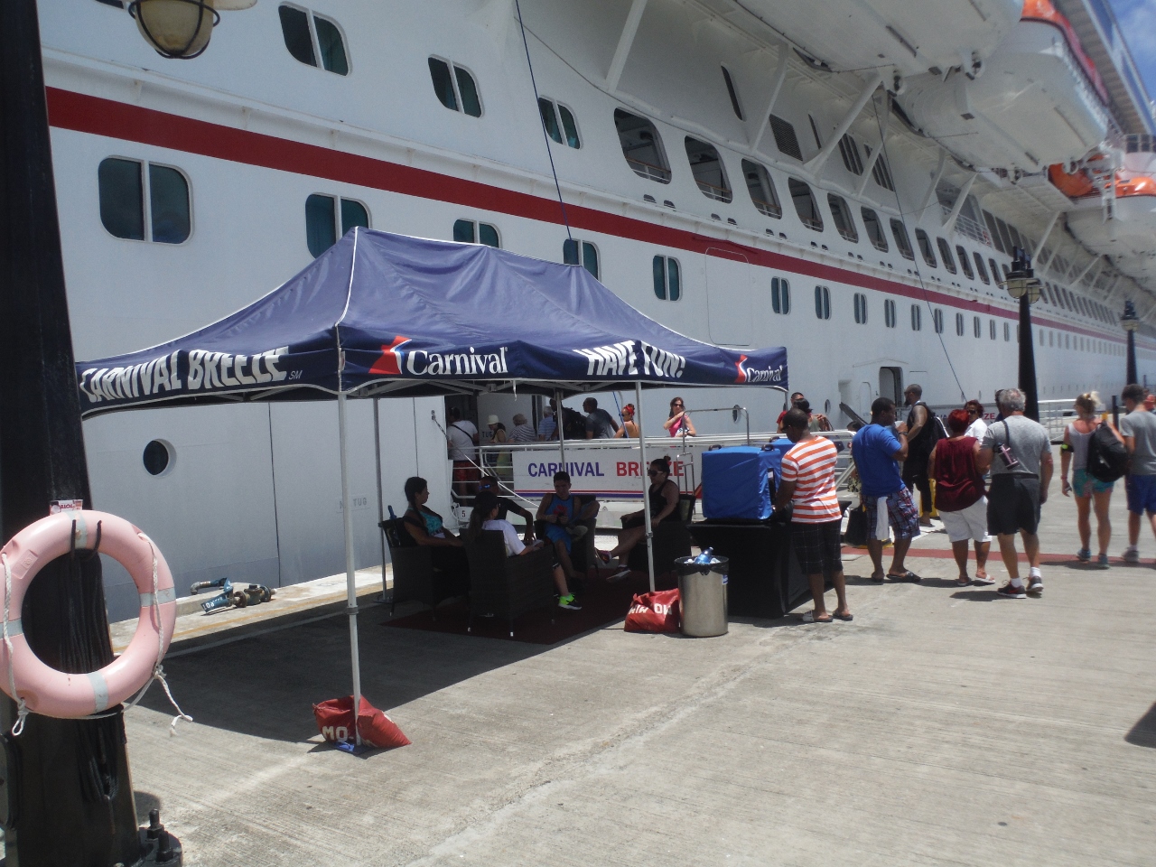
[[[503,247],[561,260],[566,232],[510,6],[449,0],[387,10],[369,0],[316,6],[343,27],[348,76],[290,57],[279,7],[268,2],[227,15],[206,54],[187,64],[151,53],[114,8],[42,3],[77,358],[171,339],[284,281],[311,260],[304,202],[316,193],[363,203],[377,229],[451,238],[455,221],[480,221],[496,227]],[[995,388],[1013,383],[1016,310],[1002,290],[975,275],[948,273],[942,262],[931,268],[920,260],[917,269],[890,234],[887,252],[866,237],[862,207],[876,210],[884,224],[919,212],[907,217],[912,243],[922,228],[933,239],[944,237],[953,251],[979,254],[988,271],[990,262],[1010,261],[977,240],[981,232],[944,228],[946,215],[928,192],[935,160],[925,142],[892,124],[888,157],[895,192],[846,171],[838,153],[820,170],[785,157],[759,120],[773,86],[764,73],[778,64],[773,50],[756,51],[749,34],[696,5],[652,2],[638,47],[628,52],[621,83],[612,88],[607,54],[618,43],[627,6],[605,3],[594,12],[607,14],[598,15],[570,5],[523,3],[539,90],[577,117],[581,147],[551,146],[554,161],[573,236],[596,249],[607,287],[701,340],[786,346],[792,387],[837,422],[845,421],[840,401],[866,412],[875,397],[892,397],[906,383],[922,384],[933,403],[964,395],[990,402]],[[695,30],[695,21],[679,24],[679,16],[706,21],[709,34]],[[676,51],[660,50],[664,32]],[[96,55],[92,45],[101,46]],[[740,120],[719,64],[744,46],[746,66],[735,62],[732,69],[740,98],[750,106]],[[480,83],[482,117],[443,108],[430,87],[430,55],[468,66]],[[862,82],[812,80],[803,67],[791,59],[773,113],[794,124],[803,157],[813,161],[818,147],[807,116],[829,136]],[[661,135],[669,183],[640,177],[623,158],[613,120],[623,106],[649,117]],[[877,146],[869,108],[851,129],[860,142]],[[734,187],[731,202],[707,198],[696,184],[683,154],[688,135],[718,148]],[[184,173],[192,202],[187,240],[126,240],[102,227],[97,170],[109,157]],[[769,171],[780,217],[761,213],[743,188],[742,160]],[[795,213],[791,178],[813,187],[825,215],[823,231],[806,228]],[[836,231],[828,193],[851,202],[858,242]],[[676,302],[655,296],[655,255],[680,264]],[[772,309],[772,280],[791,287],[788,313]],[[1067,286],[1107,301],[1103,282]],[[816,317],[816,288],[825,289],[829,318]],[[866,299],[865,323],[854,314],[857,295]],[[920,311],[919,329],[912,327],[912,309]],[[944,324],[941,334],[935,311]],[[1111,393],[1122,385],[1122,332],[1114,321],[1045,304],[1035,313],[1042,398],[1091,388]],[[1140,342],[1141,371],[1156,379],[1153,341]],[[659,432],[669,397],[644,398],[647,432]],[[758,388],[683,397],[691,407],[742,403],[753,430],[771,429],[783,403],[780,393]],[[480,415],[498,412],[509,425],[513,405],[491,406],[480,402]],[[613,399],[605,398],[603,406]],[[416,473],[430,481],[433,507],[447,513],[445,451],[430,418],[431,412],[442,416],[442,402],[383,400],[379,412],[385,502],[400,510],[402,481]],[[373,407],[355,402],[350,413],[355,541],[358,565],[365,565],[380,561]],[[721,414],[696,423],[705,432],[738,430]],[[88,421],[84,433],[96,505],[146,528],[178,584],[229,575],[277,585],[343,569],[332,405],[153,409]],[[141,461],[154,439],[172,455],[157,476]],[[112,613],[135,610],[127,576],[113,566],[109,576]]]

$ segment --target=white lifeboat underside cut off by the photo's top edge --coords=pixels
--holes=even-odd
[[[971,71],[1015,27],[1021,0],[744,0],[742,7],[832,69],[877,68],[882,58],[906,77],[932,67]]]

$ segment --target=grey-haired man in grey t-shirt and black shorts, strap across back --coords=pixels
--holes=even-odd
[[[1036,531],[1039,507],[1047,499],[1052,481],[1052,440],[1042,424],[1024,416],[1023,392],[1005,388],[999,395],[1005,417],[993,422],[984,435],[976,466],[980,473],[992,473],[987,532],[999,539],[1000,557],[1010,578],[995,592],[1006,599],[1024,599],[1029,593],[1038,596],[1044,592]],[[1030,565],[1027,588],[1020,578],[1016,533],[1023,539]]]

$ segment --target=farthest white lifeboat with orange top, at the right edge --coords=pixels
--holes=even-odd
[[[1116,181],[1116,199],[1099,198],[1068,214],[1068,228],[1084,246],[1111,257],[1125,274],[1156,287],[1156,179],[1136,176]]]

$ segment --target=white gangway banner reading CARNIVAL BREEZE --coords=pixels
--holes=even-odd
[[[606,442],[606,440],[602,440]],[[622,443],[623,440],[618,440]],[[677,445],[679,447],[673,447]],[[664,447],[665,446],[665,447]],[[690,492],[702,480],[701,450],[681,440],[665,440],[661,445],[646,442],[646,460],[668,457],[672,479],[680,490]],[[639,467],[639,450],[623,445],[608,447],[581,440],[566,440],[565,466],[558,451],[516,451],[513,458],[513,488],[521,496],[542,495],[554,490],[554,474],[560,469],[570,473],[571,490],[576,494],[595,494],[600,497],[640,499],[646,473]]]

